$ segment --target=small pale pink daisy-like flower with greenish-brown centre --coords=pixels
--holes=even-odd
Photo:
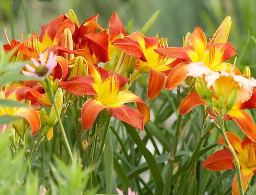
[[[45,64],[46,60],[44,58],[44,54],[40,53],[39,59],[41,64],[35,58],[31,58],[31,61],[35,65],[35,68],[27,64],[25,65],[25,67],[29,71],[22,70],[22,73],[26,76],[34,76],[34,77],[39,77],[41,79],[44,79],[45,76],[50,75],[52,73],[52,70],[57,65],[56,55],[54,55],[53,52],[50,52],[49,58],[46,64]]]

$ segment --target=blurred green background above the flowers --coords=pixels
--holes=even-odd
[[[148,36],[159,33],[169,38],[169,46],[181,46],[182,36],[200,26],[207,38],[218,28],[226,15],[232,17],[229,41],[237,48],[237,65],[242,70],[250,65],[253,75],[256,65],[256,0],[0,0],[0,40],[5,41],[3,28],[10,29],[10,16],[15,26],[15,38],[27,34],[22,3],[27,4],[32,31],[41,32],[41,25],[72,8],[82,23],[93,14],[100,14],[99,24],[107,28],[108,20],[116,11],[126,26],[134,19],[132,31],[140,30],[148,18],[160,10]],[[252,37],[253,36],[253,37]],[[233,62],[233,59],[231,60]]]

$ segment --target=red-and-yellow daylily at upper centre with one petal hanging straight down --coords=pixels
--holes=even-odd
[[[141,73],[149,73],[148,80],[148,99],[154,99],[159,95],[165,83],[165,75],[168,75],[180,60],[175,58],[163,57],[157,54],[155,48],[167,47],[167,41],[155,37],[145,37],[140,32],[134,32],[125,38],[116,39],[112,42],[117,48],[126,54],[140,59],[137,71],[131,76],[135,79]]]

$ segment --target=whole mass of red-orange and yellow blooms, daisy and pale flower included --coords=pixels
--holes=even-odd
[[[224,19],[209,42],[202,29],[196,27],[183,38],[183,47],[178,48],[169,47],[167,39],[158,36],[145,37],[140,32],[127,34],[116,13],[112,14],[108,29],[97,23],[98,17],[98,14],[94,15],[80,25],[70,10],[43,25],[41,34],[33,33],[22,42],[10,42],[7,38],[4,49],[9,52],[17,46],[12,57],[14,61],[31,59],[32,63],[23,68],[23,74],[42,79],[48,76],[52,85],[58,80],[60,88],[75,96],[93,96],[81,108],[84,130],[92,126],[105,108],[116,119],[143,130],[150,118],[149,108],[143,99],[129,91],[131,82],[142,73],[149,73],[148,99],[156,98],[164,85],[166,90],[173,90],[186,82],[189,90],[180,103],[180,114],[205,105],[212,119],[216,119],[221,110],[224,120],[233,119],[247,136],[241,142],[236,135],[227,133],[239,156],[246,190],[246,178],[250,181],[256,170],[256,124],[243,109],[256,107],[256,90],[253,88],[256,80],[250,77],[250,69],[241,73],[235,65],[225,62],[236,55],[236,49],[227,42],[231,18]],[[105,64],[104,68],[99,66],[100,62]],[[62,106],[62,90],[55,91],[59,93],[57,102]],[[0,115],[24,117],[35,135],[41,128],[42,112],[37,110],[41,105],[51,106],[44,82],[14,83],[0,95],[34,105],[0,107]],[[130,102],[136,102],[137,109],[125,105]],[[50,122],[51,116],[47,116],[47,120],[51,124],[49,127],[57,122]],[[12,125],[20,125],[20,122]],[[6,125],[0,128],[6,129]],[[222,137],[219,143],[224,144]],[[233,157],[228,149],[220,150],[207,158],[203,167],[215,171],[234,169]],[[238,194],[236,182],[235,177],[233,194]]]

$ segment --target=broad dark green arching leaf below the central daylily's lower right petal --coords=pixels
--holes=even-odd
[[[145,146],[145,144],[141,140],[139,134],[134,129],[134,127],[131,127],[131,125],[129,125],[129,124],[125,123],[125,122],[123,122],[123,124],[125,125],[126,130],[131,135],[131,137],[133,138],[134,142],[137,144],[137,147],[140,149],[142,155],[144,156],[145,160],[148,163],[148,167],[149,167],[149,169],[151,171],[152,177],[154,179],[154,183],[155,183],[156,188],[157,188],[157,193],[156,194],[162,195],[162,193],[163,193],[163,186],[164,186],[163,178],[162,178],[160,169],[158,167],[158,164],[155,161],[154,156],[147,149],[147,147]]]

